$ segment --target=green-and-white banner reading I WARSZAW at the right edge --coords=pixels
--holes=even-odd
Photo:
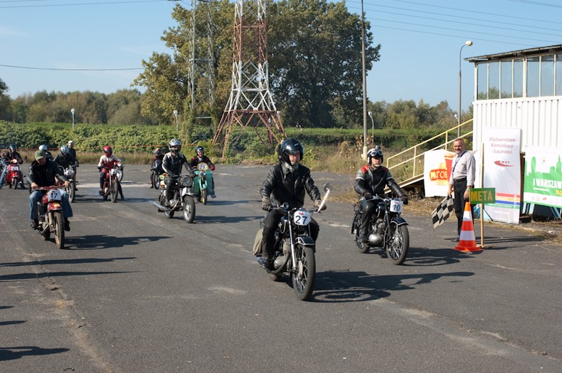
[[[523,202],[562,207],[562,151],[527,148]]]

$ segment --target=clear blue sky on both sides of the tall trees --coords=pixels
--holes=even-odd
[[[190,7],[191,1],[180,4]],[[115,69],[141,68],[153,51],[168,51],[160,36],[175,26],[174,5],[168,0],[0,0],[0,78],[11,98],[39,90],[131,88],[142,70]],[[349,0],[347,6],[359,14],[361,1]],[[562,44],[558,0],[364,0],[363,6],[374,44],[382,45],[381,61],[367,72],[371,101],[436,105],[447,100],[457,110],[459,51],[465,41],[474,44],[462,49],[462,58]],[[461,69],[466,110],[474,99],[474,65],[462,61]]]

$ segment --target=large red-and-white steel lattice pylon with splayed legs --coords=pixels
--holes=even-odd
[[[213,138],[213,145],[223,141],[223,157],[235,125],[256,132],[264,125],[270,144],[285,137],[269,88],[265,0],[236,0],[234,18],[233,84]]]

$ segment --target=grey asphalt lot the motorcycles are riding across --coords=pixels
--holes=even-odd
[[[352,206],[329,201],[301,302],[252,256],[269,167],[219,165],[194,224],[156,211],[148,168],[126,165],[113,204],[81,165],[66,250],[29,228],[26,190],[0,190],[0,372],[562,372],[558,246],[491,226],[461,253],[454,221],[406,206],[394,266],[359,253]]]

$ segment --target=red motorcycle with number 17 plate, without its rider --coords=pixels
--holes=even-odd
[[[39,227],[41,236],[48,241],[51,238],[51,233],[55,235],[56,247],[64,248],[64,214],[62,204],[61,187],[41,187],[39,190],[46,191],[37,202],[37,219],[39,220]]]

